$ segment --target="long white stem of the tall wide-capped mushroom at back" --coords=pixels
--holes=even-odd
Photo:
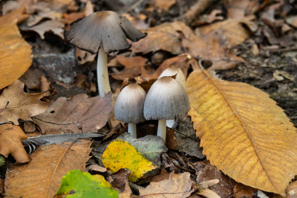
[[[99,48],[97,61],[98,90],[101,98],[111,91],[108,79],[107,54],[102,47]]]

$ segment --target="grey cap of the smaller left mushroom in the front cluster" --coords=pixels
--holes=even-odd
[[[122,122],[144,122],[143,106],[147,93],[138,84],[129,84],[119,93],[115,102],[115,118]]]

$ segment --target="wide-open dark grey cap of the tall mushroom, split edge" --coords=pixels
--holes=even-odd
[[[128,49],[131,45],[127,38],[138,41],[147,35],[134,28],[126,17],[113,11],[95,12],[70,25],[71,29],[64,35],[66,40],[91,53],[97,53],[100,46],[106,53]]]

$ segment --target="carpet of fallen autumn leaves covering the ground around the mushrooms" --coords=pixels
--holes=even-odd
[[[294,0],[0,6],[0,197],[297,196]],[[97,54],[64,38],[72,22],[101,10],[147,33],[108,54],[112,92],[103,98]],[[169,66],[186,77],[191,110],[166,129],[166,142],[156,120],[137,124],[133,138],[114,115],[121,88],[148,91]]]

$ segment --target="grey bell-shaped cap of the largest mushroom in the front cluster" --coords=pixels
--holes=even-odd
[[[179,82],[164,76],[154,82],[144,104],[144,116],[147,120],[169,120],[185,115],[190,111],[187,93]]]

